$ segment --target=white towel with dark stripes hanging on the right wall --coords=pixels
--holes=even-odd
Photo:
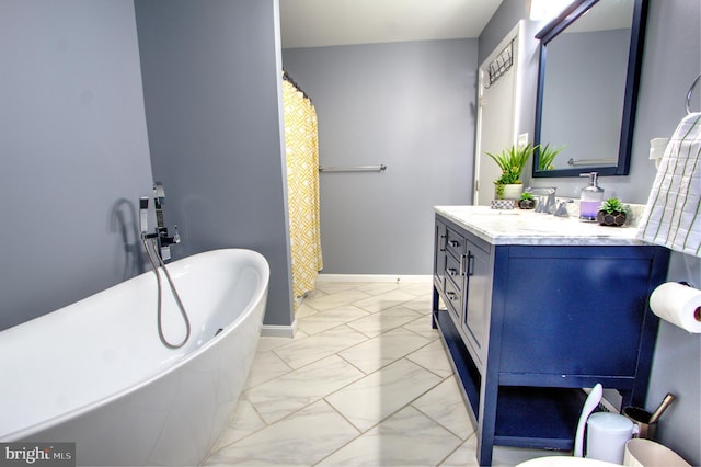
[[[701,113],[683,117],[667,144],[637,238],[701,258]]]

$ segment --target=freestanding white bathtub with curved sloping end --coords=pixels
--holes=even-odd
[[[197,465],[245,383],[269,267],[250,250],[168,265],[192,335],[166,349],[152,271],[0,332],[0,442],[74,442],[78,465]],[[184,322],[163,278],[164,333]]]

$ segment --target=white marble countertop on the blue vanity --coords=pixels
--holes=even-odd
[[[583,223],[576,217],[492,209],[490,206],[435,206],[435,210],[492,244],[648,244],[635,239],[636,227],[604,227],[597,223]]]

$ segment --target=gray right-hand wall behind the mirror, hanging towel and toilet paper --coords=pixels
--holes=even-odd
[[[520,18],[527,18],[528,0],[505,0],[480,36],[480,57],[486,57]],[[685,115],[683,102],[693,79],[701,72],[701,2],[651,0],[643,70],[629,176],[602,178],[609,195],[630,203],[645,203],[655,178],[648,160],[650,139],[669,137]],[[533,93],[536,92],[533,88]],[[701,92],[693,109],[701,109]],[[530,110],[533,111],[532,109]],[[555,185],[574,196],[579,179],[536,179],[535,184]],[[701,287],[701,260],[671,255],[669,281],[687,281]],[[654,409],[669,391],[678,400],[659,422],[660,442],[692,465],[701,464],[701,337],[662,322],[657,337],[646,408]]]

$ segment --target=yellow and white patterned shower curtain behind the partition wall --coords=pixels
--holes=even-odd
[[[283,102],[292,292],[298,298],[314,289],[317,275],[323,267],[319,223],[319,136],[314,106],[287,79],[283,80]]]

